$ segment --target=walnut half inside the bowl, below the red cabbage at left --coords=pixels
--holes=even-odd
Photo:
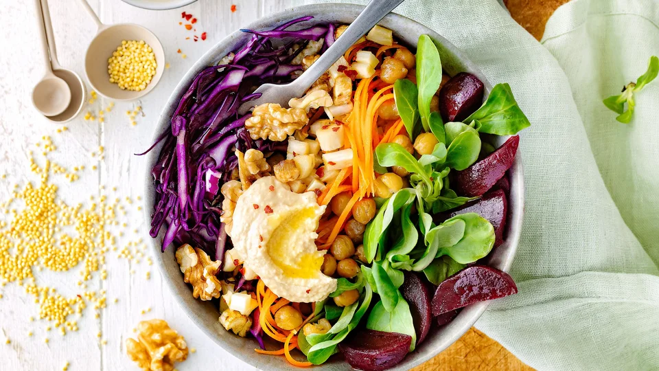
[[[195,299],[211,300],[220,297],[220,280],[215,275],[220,271],[222,262],[211,261],[202,249],[193,249],[187,244],[176,250],[176,261],[181,266],[183,280],[192,284],[192,296]]]

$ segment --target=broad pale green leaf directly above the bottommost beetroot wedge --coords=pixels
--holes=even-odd
[[[384,331],[385,333],[410,335],[412,337],[411,352],[417,343],[417,334],[414,330],[412,313],[410,312],[409,304],[407,304],[400,291],[397,294],[399,295],[398,304],[393,311],[386,311],[382,301],[373,306],[373,310],[366,323],[366,328],[369,330]]]

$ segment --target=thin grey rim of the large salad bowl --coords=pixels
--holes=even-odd
[[[349,15],[347,16],[351,16],[351,14],[358,14],[359,12],[361,12],[361,10],[365,8],[363,5],[354,5],[354,4],[345,4],[345,3],[301,5],[294,8],[288,8],[287,10],[283,10],[281,12],[270,14],[269,16],[264,16],[261,19],[257,19],[250,25],[247,25],[246,27],[242,27],[242,28],[264,29],[266,27],[273,27],[275,23],[277,23],[276,21],[277,19],[294,19],[301,16],[301,14],[314,15],[314,16],[319,16],[319,14],[330,14],[330,15],[336,14],[335,7],[339,5],[343,8],[342,9],[342,13],[344,13],[343,16],[345,16],[345,14],[348,13]],[[336,19],[338,18],[338,16],[334,16],[334,18]],[[437,32],[431,30],[429,27],[425,25],[422,25],[421,23],[418,23],[417,21],[414,21],[413,19],[409,19],[408,17],[402,16],[400,14],[391,13],[387,15],[385,19],[394,23],[400,23],[402,25],[413,25],[415,27],[421,27],[422,29],[424,29],[424,33],[429,34],[436,44],[439,43],[439,45],[441,45],[443,49],[446,49],[446,52],[452,54],[454,57],[456,57],[459,60],[460,63],[465,65],[467,67],[465,68],[466,71],[469,71],[470,73],[478,76],[478,78],[483,80],[483,83],[485,84],[486,96],[487,93],[489,93],[489,91],[492,89],[492,84],[487,80],[487,78],[485,78],[485,76],[480,71],[480,69],[478,69],[478,67],[476,67],[476,65],[472,63],[463,54],[463,52],[461,52],[457,47],[455,47],[452,43],[450,43],[450,41],[448,41],[446,38],[443,38],[443,36],[437,34]],[[394,32],[396,32],[395,28],[394,28]],[[213,63],[213,60],[218,60],[218,58],[221,58],[221,56],[224,56],[229,52],[233,51],[233,48],[235,48],[234,44],[236,43],[236,41],[240,40],[241,36],[244,36],[244,33],[240,32],[240,30],[236,30],[232,34],[229,34],[228,36],[223,38],[222,41],[216,43],[216,45],[213,45],[213,47],[211,47],[208,52],[206,52],[203,56],[201,56],[197,60],[197,62],[192,67],[190,67],[190,69],[187,71],[185,76],[183,76],[181,80],[178,82],[178,85],[176,86],[174,91],[172,91],[170,98],[168,98],[167,100],[167,104],[165,104],[165,106],[163,107],[161,115],[159,116],[158,124],[154,128],[154,135],[152,136],[153,142],[160,133],[163,133],[163,131],[165,131],[166,128],[170,126],[171,113],[174,111],[176,105],[178,104],[178,100],[180,100],[181,95],[185,93],[187,87],[189,87],[190,82],[192,82],[194,76],[196,76],[198,71]],[[499,137],[498,144],[499,145],[502,144],[503,142],[505,142],[507,138],[508,137]],[[153,186],[152,177],[150,175],[150,169],[152,168],[155,161],[157,161],[161,147],[162,147],[161,144],[156,146],[150,153],[148,153],[148,155],[146,155],[146,161],[143,161],[143,164],[145,165],[143,172],[146,175],[145,181],[143,183],[144,186],[143,190],[145,195],[143,199],[144,200],[143,217],[147,225],[150,225],[150,214],[152,213],[152,210],[154,208],[154,194],[152,192],[147,192],[152,190],[152,186]],[[494,249],[487,260],[487,265],[496,267],[497,269],[506,272],[509,271],[513,259],[516,255],[516,250],[519,245],[520,235],[522,232],[522,218],[524,214],[524,177],[523,177],[523,169],[522,169],[522,159],[519,150],[516,155],[516,159],[513,163],[513,166],[509,170],[509,180],[510,180],[511,188],[509,192],[509,204],[508,204],[509,214],[508,214],[507,227],[506,227],[507,237],[505,243]],[[266,366],[274,367],[269,360],[266,361],[266,359],[262,358],[264,356],[253,357],[255,353],[253,352],[251,347],[241,349],[241,351],[246,351],[245,355],[249,355],[252,357],[240,357],[240,355],[233,354],[231,352],[232,349],[229,348],[228,344],[226,344],[227,341],[223,341],[222,339],[220,339],[218,337],[218,333],[215,330],[213,330],[213,328],[206,326],[204,324],[204,319],[200,317],[200,315],[196,313],[196,311],[192,310],[193,309],[192,306],[202,306],[205,303],[200,302],[198,300],[194,300],[192,298],[192,295],[189,295],[189,288],[187,288],[187,295],[189,297],[183,297],[183,295],[179,295],[181,293],[185,294],[185,291],[181,292],[181,282],[183,282],[183,280],[181,280],[180,273],[176,276],[176,278],[174,278],[176,280],[179,280],[180,282],[174,282],[174,280],[171,277],[168,277],[163,256],[170,256],[170,254],[162,254],[161,244],[158,243],[162,241],[163,234],[164,232],[161,230],[158,238],[154,239],[148,236],[148,244],[151,247],[150,250],[153,251],[155,255],[154,263],[155,265],[157,265],[159,271],[161,271],[163,275],[163,280],[166,282],[165,283],[166,286],[172,291],[174,300],[178,303],[179,306],[181,306],[183,311],[185,311],[189,319],[191,319],[192,322],[194,322],[194,324],[200,330],[202,330],[202,332],[205,335],[207,335],[215,344],[220,346],[220,348],[225,350],[227,353],[233,355],[233,357],[235,357],[236,359],[239,359],[240,361],[247,363],[255,368],[259,368],[259,366],[264,366],[264,363],[262,361],[265,361]],[[167,249],[172,250],[172,247],[167,247]],[[171,253],[171,255],[173,256],[173,252]],[[193,302],[194,304],[188,304],[188,302]],[[452,320],[452,322],[450,322],[445,326],[442,326],[436,331],[436,333],[439,333],[439,335],[437,335],[438,337],[437,339],[432,339],[432,341],[428,339],[424,341],[424,344],[421,344],[420,346],[421,349],[417,348],[415,352],[410,353],[406,357],[406,359],[404,359],[404,361],[399,363],[394,368],[391,368],[391,370],[408,370],[410,368],[418,366],[421,363],[428,361],[432,357],[438,355],[443,350],[446,350],[448,346],[453,344],[457,339],[459,339],[462,335],[464,335],[467,332],[467,330],[469,330],[476,323],[476,321],[478,321],[478,318],[480,318],[481,315],[485,312],[488,305],[489,305],[489,301],[479,302],[463,308],[463,310],[459,313],[459,315],[456,318]],[[429,346],[430,348],[428,348]],[[270,357],[270,359],[272,358],[273,357]],[[347,363],[343,361],[341,362],[347,366]],[[336,363],[336,361],[334,361],[334,363]],[[316,370],[345,369],[345,367],[342,368],[337,367],[337,365],[334,363],[325,364],[323,366],[316,366],[315,369]],[[279,368],[279,367],[275,367],[275,368]],[[291,368],[292,366],[288,365],[288,367],[281,369],[291,369]],[[348,369],[350,369],[349,366]]]

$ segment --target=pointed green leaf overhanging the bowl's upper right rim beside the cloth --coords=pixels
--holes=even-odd
[[[506,83],[495,85],[483,106],[464,122],[473,120],[481,122],[481,133],[496,135],[514,135],[531,126]]]

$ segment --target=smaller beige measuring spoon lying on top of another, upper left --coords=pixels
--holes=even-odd
[[[36,14],[39,25],[39,38],[43,53],[43,64],[46,73],[32,90],[32,103],[44,116],[59,115],[71,103],[71,89],[65,80],[53,73],[51,58],[49,56],[49,43],[46,35],[45,19],[41,10],[41,1],[35,0]]]

